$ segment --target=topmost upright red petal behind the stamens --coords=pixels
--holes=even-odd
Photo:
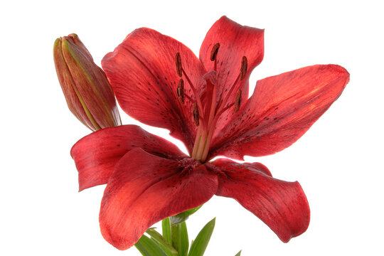
[[[221,17],[210,28],[200,48],[200,60],[206,70],[213,70],[210,52],[216,43],[220,43],[217,55],[218,95],[223,98],[228,93],[240,73],[242,56],[246,56],[247,76],[238,82],[229,101],[235,100],[239,88],[242,88],[242,95],[247,98],[250,73],[264,57],[264,30],[241,26],[226,16]]]

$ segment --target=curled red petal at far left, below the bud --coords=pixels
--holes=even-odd
[[[101,129],[80,139],[70,151],[79,171],[79,190],[107,183],[117,161],[136,147],[166,158],[183,156],[171,142],[136,125]]]

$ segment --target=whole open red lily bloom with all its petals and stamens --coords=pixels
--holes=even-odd
[[[133,125],[101,129],[71,154],[80,191],[107,183],[100,210],[104,238],[120,250],[171,215],[234,198],[283,242],[304,233],[309,206],[298,182],[272,178],[259,163],[291,145],[338,98],[349,80],[338,65],[314,65],[257,82],[248,80],[264,55],[263,30],[220,18],[203,41],[200,60],[182,43],[149,28],[127,36],[102,60],[122,109],[169,129],[176,146]]]

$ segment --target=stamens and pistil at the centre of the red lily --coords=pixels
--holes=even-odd
[[[210,142],[219,117],[232,107],[233,112],[238,112],[240,109],[242,92],[240,89],[237,92],[234,92],[234,90],[236,85],[238,85],[238,82],[243,80],[247,74],[247,58],[242,56],[238,77],[235,82],[233,82],[233,85],[230,87],[225,97],[222,97],[221,94],[218,96],[217,78],[220,74],[217,70],[217,56],[219,48],[220,43],[216,43],[210,52],[210,60],[214,62],[214,68],[203,76],[203,79],[206,81],[205,97],[202,97],[203,102],[198,95],[196,87],[192,84],[191,79],[188,78],[188,75],[183,69],[180,53],[176,53],[176,73],[180,77],[180,80],[178,80],[178,86],[176,87],[176,95],[178,97],[178,101],[182,105],[185,100],[189,100],[193,103],[193,113],[191,114],[193,114],[193,119],[198,129],[191,157],[201,162],[204,162],[207,159]],[[183,78],[186,79],[191,87],[193,95],[186,94],[184,90]],[[230,96],[234,94],[235,102],[230,102]]]

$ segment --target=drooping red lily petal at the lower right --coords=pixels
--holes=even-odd
[[[268,169],[258,163],[238,164],[218,159],[213,164],[213,170],[223,174],[218,178],[216,195],[234,198],[267,224],[280,240],[288,242],[308,228],[310,210],[297,181],[272,178]]]

